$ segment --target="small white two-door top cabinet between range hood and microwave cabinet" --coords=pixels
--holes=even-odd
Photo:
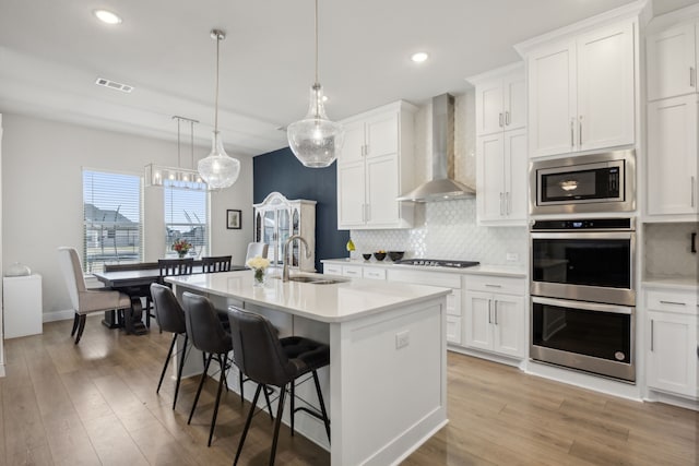
[[[516,130],[526,124],[526,87],[521,64],[503,76],[494,76],[476,84],[476,135]]]

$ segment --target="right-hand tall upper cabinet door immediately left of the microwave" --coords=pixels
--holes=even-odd
[[[505,211],[510,223],[525,225],[529,192],[526,177],[529,158],[526,157],[526,130],[505,133]]]

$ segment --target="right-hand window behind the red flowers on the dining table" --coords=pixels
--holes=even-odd
[[[175,258],[171,246],[178,239],[192,244],[188,256],[209,255],[209,216],[206,215],[206,192],[177,189],[167,180],[165,195],[165,256]]]

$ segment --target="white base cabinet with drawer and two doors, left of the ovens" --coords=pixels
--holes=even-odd
[[[505,356],[525,356],[524,280],[469,276],[464,290],[464,345]]]

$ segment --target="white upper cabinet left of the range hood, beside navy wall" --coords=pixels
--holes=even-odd
[[[414,188],[416,107],[399,101],[345,120],[337,158],[337,228],[410,228],[413,204],[396,198]]]

